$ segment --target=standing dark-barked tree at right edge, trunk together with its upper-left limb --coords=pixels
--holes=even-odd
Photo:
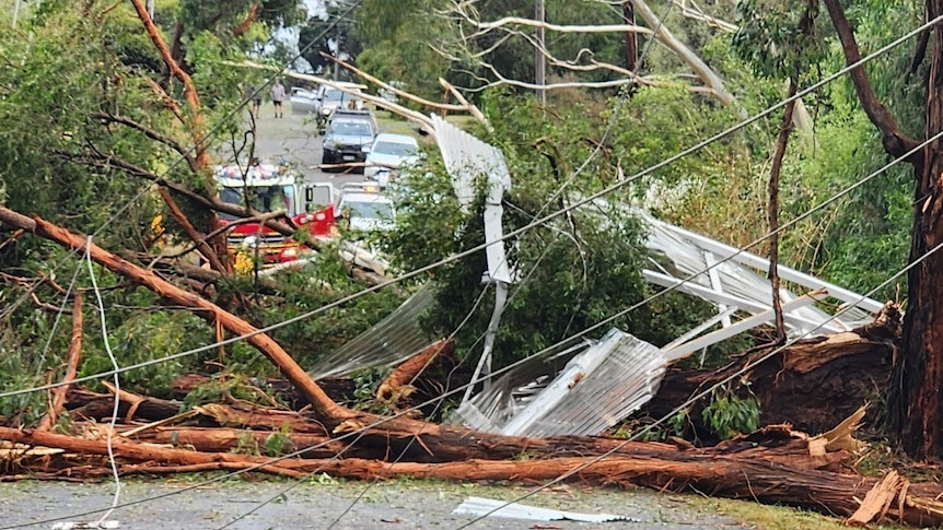
[[[846,61],[861,58],[854,32],[840,0],[825,0],[833,25],[841,40]],[[927,20],[943,14],[943,0],[925,0]],[[927,86],[924,138],[943,130],[943,28],[933,31],[930,76]],[[885,151],[900,156],[918,142],[900,131],[894,117],[877,99],[862,68],[851,71],[858,98],[871,122],[881,131]],[[943,457],[943,144],[934,141],[912,155],[917,181],[911,228],[910,262],[922,262],[908,271],[908,307],[904,318],[903,349],[896,357],[889,391],[890,423],[897,444],[917,459]],[[933,252],[933,254],[930,254]],[[929,256],[928,256],[929,254]],[[925,258],[925,259],[924,259]]]

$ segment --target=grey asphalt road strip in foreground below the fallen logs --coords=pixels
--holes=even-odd
[[[291,487],[290,486],[295,486]],[[119,508],[107,520],[129,530],[264,529],[439,529],[454,530],[475,519],[453,515],[469,496],[513,500],[524,487],[395,481],[369,487],[364,482],[336,482],[326,476],[299,482],[229,481],[182,492],[179,479],[127,480],[123,503],[163,496]],[[78,514],[112,505],[114,484],[20,482],[0,485],[0,529],[53,528],[51,519],[95,522],[102,515]],[[275,502],[263,504],[276,498]],[[486,518],[474,529],[631,529],[747,530],[710,508],[690,504],[689,496],[648,490],[620,492],[557,486],[524,502],[528,506],[583,514],[609,514],[628,521],[586,523]],[[255,510],[255,511],[253,511]],[[45,522],[39,522],[45,521]],[[335,523],[335,521],[337,521]]]

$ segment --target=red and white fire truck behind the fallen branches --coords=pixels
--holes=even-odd
[[[304,182],[300,173],[284,164],[221,166],[213,176],[223,202],[249,205],[259,213],[284,211],[295,225],[314,237],[327,238],[334,234],[335,190],[328,182]],[[240,219],[220,213],[223,224],[233,225],[226,236],[226,247],[233,257],[251,254],[264,267],[270,267],[293,261],[306,249],[261,223],[242,223]]]

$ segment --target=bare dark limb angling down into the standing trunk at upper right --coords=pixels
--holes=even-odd
[[[858,48],[858,42],[854,39],[854,31],[845,16],[845,10],[841,8],[840,0],[824,1],[825,7],[828,9],[828,15],[831,17],[831,24],[838,33],[838,39],[841,42],[845,62],[853,64],[860,61],[861,51]],[[892,156],[900,156],[916,148],[918,142],[901,132],[894,116],[877,99],[877,95],[871,87],[871,82],[868,80],[868,73],[863,67],[858,67],[851,71],[851,82],[854,84],[854,92],[858,93],[858,98],[861,101],[864,114],[868,115],[871,122],[881,131],[881,142],[884,145],[884,150]],[[919,161],[922,156],[922,152],[915,153],[910,157],[910,161]]]

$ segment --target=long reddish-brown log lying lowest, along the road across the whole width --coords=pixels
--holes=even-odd
[[[39,431],[0,427],[0,439],[30,446],[57,447],[69,454],[104,457],[104,440],[57,435]],[[656,444],[664,446],[663,444]],[[567,475],[567,481],[590,485],[621,487],[647,486],[659,491],[682,492],[694,488],[713,496],[780,503],[829,514],[852,516],[861,504],[858,498],[873,490],[878,479],[857,474],[802,469],[789,459],[764,460],[742,455],[717,455],[700,451],[657,451],[637,457],[601,454],[556,457],[533,460],[459,460],[442,463],[385,462],[358,458],[283,459],[275,460],[232,452],[203,452],[168,448],[152,444],[113,440],[113,447],[124,472],[153,472],[168,466],[182,469],[248,469],[301,476],[326,472],[335,476],[374,480],[397,476],[454,481],[550,481]],[[40,457],[34,457],[38,459]],[[33,462],[24,457],[10,468],[30,469]],[[104,462],[103,462],[104,463]],[[104,466],[102,466],[104,468]],[[47,470],[45,470],[47,471]],[[80,469],[74,470],[81,472]],[[11,475],[16,469],[8,470]],[[24,476],[25,473],[20,473]],[[931,526],[943,523],[943,503],[938,495],[943,486],[936,483],[909,484],[900,488],[899,517],[903,521]],[[889,513],[895,515],[893,511]]]

